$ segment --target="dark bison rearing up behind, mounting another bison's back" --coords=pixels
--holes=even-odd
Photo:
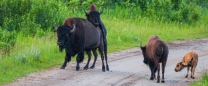
[[[100,15],[102,14],[103,9],[100,12],[98,12],[96,5],[91,4],[90,11],[86,12],[84,10],[84,12],[86,14],[87,20],[90,21],[94,26],[99,27],[102,31],[103,41],[104,41],[104,54],[105,54],[106,68],[109,71],[108,61],[107,61],[107,39],[106,39],[107,31],[106,31],[106,28],[105,28],[103,22],[100,19]],[[94,60],[94,63],[95,62],[96,62],[96,60]]]

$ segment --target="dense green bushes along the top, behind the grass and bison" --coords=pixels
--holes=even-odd
[[[9,51],[18,33],[43,36],[61,25],[67,17],[84,17],[95,3],[102,16],[109,19],[149,18],[157,21],[194,24],[208,23],[206,0],[2,0],[0,3],[0,51]]]

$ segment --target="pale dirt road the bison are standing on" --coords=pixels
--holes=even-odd
[[[208,38],[171,42],[168,47],[165,83],[149,80],[150,70],[143,63],[140,48],[136,47],[108,54],[110,71],[107,72],[102,72],[99,57],[95,69],[83,70],[87,62],[85,60],[80,65],[82,70],[75,71],[76,64],[70,62],[66,69],[56,67],[46,72],[33,73],[6,86],[186,86],[198,80],[202,70],[208,69]],[[194,80],[190,78],[190,73],[188,78],[184,78],[186,69],[174,71],[175,65],[192,50],[199,55]]]

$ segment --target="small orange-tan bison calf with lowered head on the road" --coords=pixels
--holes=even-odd
[[[177,63],[175,71],[181,71],[184,67],[187,67],[186,78],[188,77],[189,68],[191,67],[191,78],[194,79],[194,71],[198,63],[198,55],[196,52],[188,52],[182,59],[181,62]]]

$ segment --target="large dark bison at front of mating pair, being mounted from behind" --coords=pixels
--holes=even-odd
[[[72,56],[76,57],[76,70],[80,70],[79,63],[84,59],[84,51],[89,53],[91,50],[99,49],[101,59],[103,62],[103,36],[99,27],[95,27],[89,21],[82,18],[67,18],[63,25],[56,27],[59,50],[65,49],[66,56],[61,69],[66,67],[67,62],[71,60]],[[89,55],[89,54],[88,54]],[[104,62],[102,70],[105,71]]]

